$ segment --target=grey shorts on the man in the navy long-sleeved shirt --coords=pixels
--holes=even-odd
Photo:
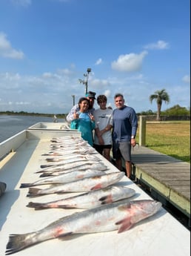
[[[130,141],[113,143],[113,158],[119,159],[121,157],[123,157],[125,161],[131,162]]]

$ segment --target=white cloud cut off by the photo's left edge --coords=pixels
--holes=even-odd
[[[15,50],[7,40],[7,36],[0,32],[0,56],[10,59],[23,59],[24,53],[21,50]]]

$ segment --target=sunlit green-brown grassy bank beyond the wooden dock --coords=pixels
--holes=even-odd
[[[146,147],[190,163],[190,121],[147,122]]]

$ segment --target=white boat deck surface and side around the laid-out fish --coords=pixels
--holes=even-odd
[[[10,152],[0,161],[0,180],[7,184],[5,193],[0,197],[1,255],[5,255],[10,234],[34,232],[60,217],[83,211],[82,209],[34,211],[26,207],[30,201],[50,202],[68,197],[71,193],[49,194],[31,199],[26,197],[28,188],[19,188],[21,183],[33,183],[38,180],[38,174],[35,172],[45,161],[42,154],[50,150],[50,138],[55,137],[56,134],[57,137],[62,137],[70,134],[70,131],[23,131],[10,140],[0,143],[1,152]],[[97,156],[104,165],[107,165],[108,172],[118,171],[100,154]],[[130,200],[152,199],[127,177],[123,177],[119,183],[135,189],[135,195]],[[129,256],[190,256],[190,232],[162,207],[155,215],[137,223],[127,232],[81,234],[65,240],[48,240],[15,255],[122,256],[124,252],[128,252]]]

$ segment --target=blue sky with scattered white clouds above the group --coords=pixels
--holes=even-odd
[[[0,111],[67,113],[87,68],[113,108],[190,108],[190,0],[0,0]]]

